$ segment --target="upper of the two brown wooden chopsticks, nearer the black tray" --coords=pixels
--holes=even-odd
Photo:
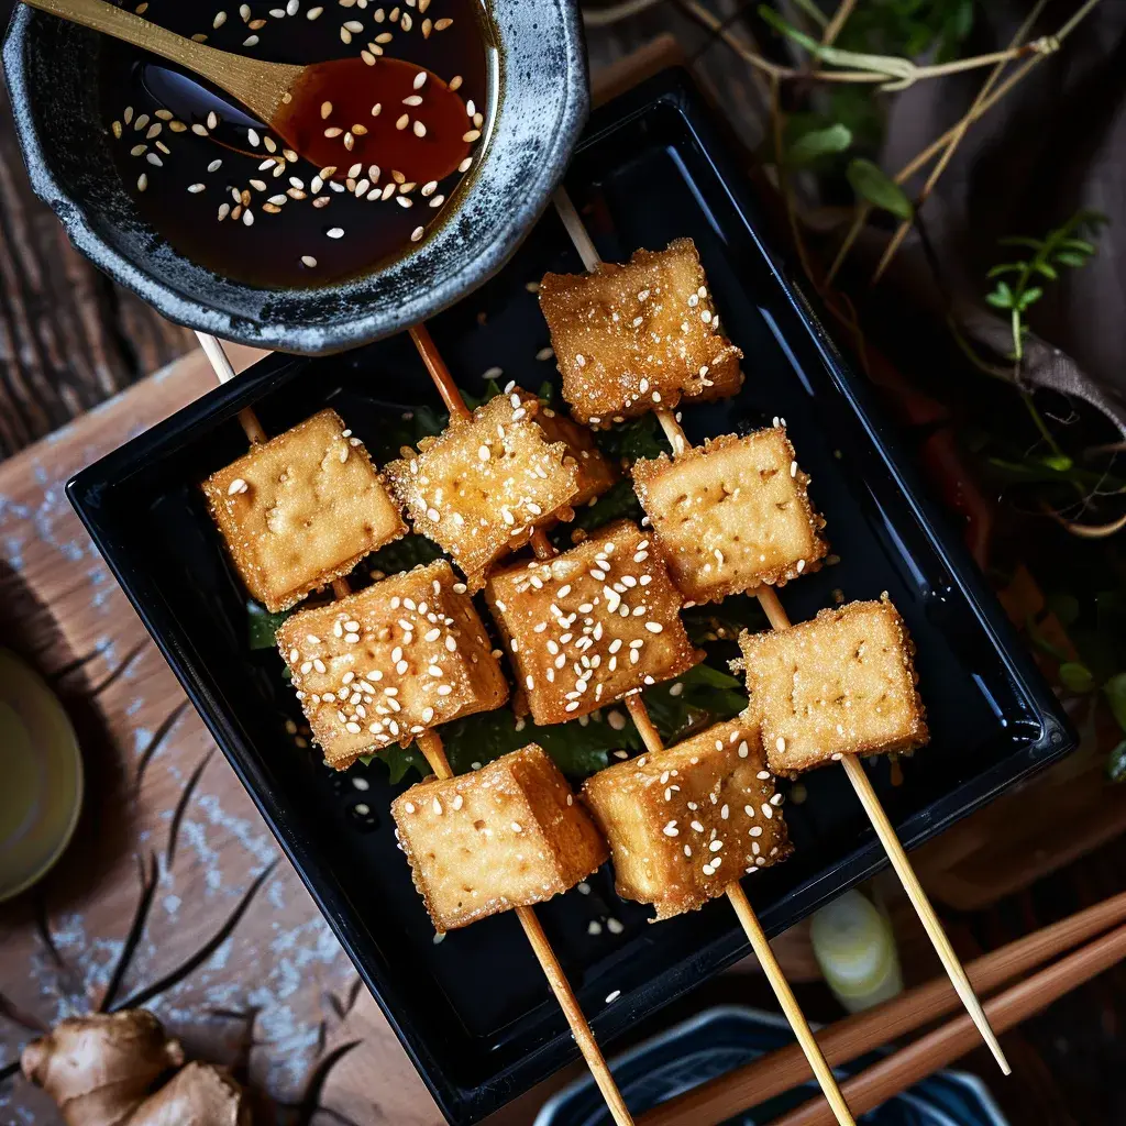
[[[988,993],[1124,920],[1126,892],[976,958],[966,973],[974,989]],[[819,1033],[819,1043],[829,1063],[840,1066],[946,1016],[959,1003],[950,983],[936,977],[830,1025]],[[637,1126],[716,1126],[808,1078],[805,1057],[798,1045],[792,1044],[654,1107],[637,1119]]]

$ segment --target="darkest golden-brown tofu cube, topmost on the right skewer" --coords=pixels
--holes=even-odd
[[[743,354],[720,332],[691,239],[638,250],[628,265],[547,274],[539,307],[580,422],[608,427],[685,400],[723,399],[743,382]]]

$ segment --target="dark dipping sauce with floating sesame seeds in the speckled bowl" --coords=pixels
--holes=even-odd
[[[334,153],[336,171],[322,177],[321,167],[298,158],[227,95],[106,41],[101,105],[115,162],[141,215],[186,258],[262,288],[321,286],[409,252],[456,203],[488,136],[494,97],[493,37],[477,0],[288,0],[288,7],[214,0],[206,8],[152,0],[142,8],[145,19],[187,37],[206,35],[209,46],[235,54],[298,64],[357,61],[346,68],[356,81],[301,99],[298,134],[315,137],[316,159]],[[249,37],[258,42],[244,45]],[[430,74],[415,90],[411,79],[422,70]],[[446,83],[456,96],[441,89]],[[396,128],[403,115],[409,120]],[[356,124],[367,132],[354,135]],[[325,137],[325,129],[340,132]],[[423,175],[445,175],[411,180],[396,159]]]

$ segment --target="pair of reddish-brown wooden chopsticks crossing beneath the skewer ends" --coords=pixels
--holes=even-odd
[[[1073,953],[1066,954],[1069,950]],[[1063,954],[1066,956],[1038,968]],[[984,994],[1038,969],[985,1002],[990,1022],[1003,1033],[1123,958],[1126,958],[1126,893],[983,955],[966,966],[966,973],[974,989]],[[950,983],[936,978],[867,1012],[837,1021],[819,1034],[819,1043],[829,1063],[841,1066],[888,1040],[917,1031],[958,1004],[959,998]],[[968,1016],[959,1017],[855,1075],[841,1084],[841,1091],[855,1115],[867,1114],[953,1063],[977,1043],[973,1021]],[[715,1126],[808,1078],[805,1057],[793,1044],[655,1107],[638,1119],[637,1126],[687,1123]],[[814,1098],[777,1119],[774,1126],[832,1126],[832,1111],[823,1100]]]

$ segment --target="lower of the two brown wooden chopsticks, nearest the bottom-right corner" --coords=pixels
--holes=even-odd
[[[1126,958],[1126,927],[1118,927],[986,1001],[985,1015],[993,1027],[1003,1033],[1123,958]],[[958,1017],[855,1075],[843,1084],[846,1098],[857,1114],[867,1114],[893,1094],[953,1063],[976,1043],[972,1019]],[[774,1126],[832,1126],[832,1121],[822,1101],[813,1099],[777,1119]]]

